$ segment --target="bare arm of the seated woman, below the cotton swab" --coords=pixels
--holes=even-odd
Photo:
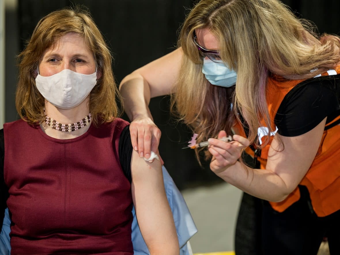
[[[166,197],[162,166],[132,152],[131,191],[142,236],[151,254],[178,254],[175,223]]]

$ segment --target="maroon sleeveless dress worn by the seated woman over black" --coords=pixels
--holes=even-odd
[[[4,124],[11,254],[133,254],[131,184],[115,119],[73,139],[22,120]]]

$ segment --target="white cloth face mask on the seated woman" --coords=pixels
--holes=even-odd
[[[51,76],[41,76],[38,70],[35,78],[35,85],[40,94],[55,107],[65,110],[80,105],[96,84],[97,68],[92,74],[64,69]]]

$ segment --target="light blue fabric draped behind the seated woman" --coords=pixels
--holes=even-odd
[[[181,192],[177,189],[171,176],[169,175],[166,168],[163,166],[163,179],[165,192],[170,204],[170,208],[175,221],[177,237],[180,244],[180,255],[192,255],[189,239],[197,233],[197,228],[189,209],[184,201]],[[144,242],[142,234],[137,223],[135,209],[132,209],[133,222],[132,222],[132,243],[135,255],[146,255],[150,254],[147,245]],[[3,220],[2,230],[0,234],[0,254],[9,255],[11,251],[10,246],[10,216],[8,215],[8,209],[5,210],[5,218]]]

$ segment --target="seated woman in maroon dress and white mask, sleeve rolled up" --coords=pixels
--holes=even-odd
[[[20,53],[0,162],[12,254],[134,254],[133,206],[150,254],[179,254],[161,163],[132,150],[111,64],[78,8],[43,17]]]

